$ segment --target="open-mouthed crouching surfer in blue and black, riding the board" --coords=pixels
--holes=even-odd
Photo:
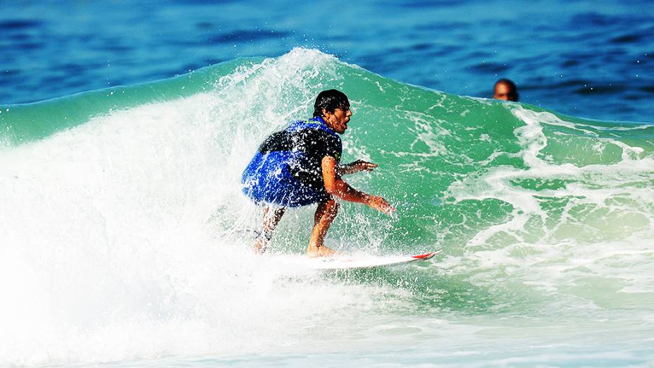
[[[382,197],[356,190],[341,178],[377,167],[363,160],[340,164],[343,147],[339,135],[345,133],[351,116],[347,96],[338,90],[326,90],[316,97],[313,118],[291,123],[259,146],[242,176],[245,195],[264,205],[255,251],[265,252],[286,207],[318,204],[307,248],[310,257],[335,253],[323,240],[338,214],[337,197],[367,204],[385,214],[395,211]]]

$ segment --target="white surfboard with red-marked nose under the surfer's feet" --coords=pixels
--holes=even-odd
[[[308,259],[306,264],[312,269],[319,270],[372,269],[374,267],[397,266],[398,264],[424,261],[440,252],[443,252],[443,250],[408,256],[316,257]]]

